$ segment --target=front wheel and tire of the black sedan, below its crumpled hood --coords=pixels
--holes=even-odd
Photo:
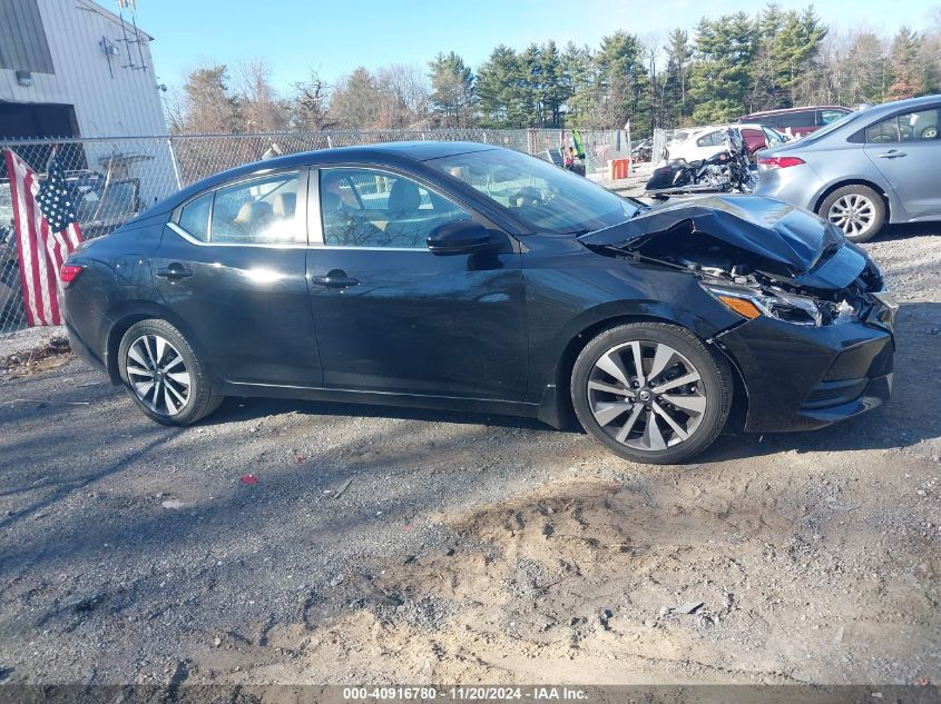
[[[581,426],[616,455],[677,464],[718,437],[732,408],[728,361],[689,330],[633,323],[592,339],[575,361]]]

